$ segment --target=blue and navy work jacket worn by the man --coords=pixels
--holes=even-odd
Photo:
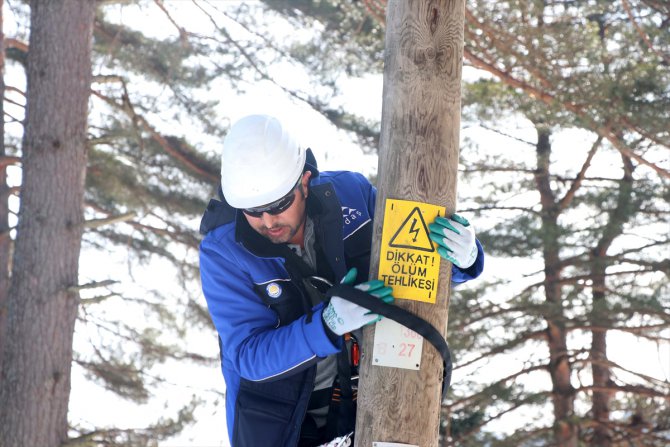
[[[318,273],[339,282],[356,267],[365,281],[376,190],[357,173],[314,173],[307,212],[324,267]],[[225,201],[210,201],[201,232],[202,288],[220,338],[230,441],[234,447],[295,447],[316,363],[338,353],[342,341],[326,332],[324,305],[306,296],[286,244],[263,238]],[[477,247],[475,264],[454,267],[452,282],[481,273],[484,253]]]

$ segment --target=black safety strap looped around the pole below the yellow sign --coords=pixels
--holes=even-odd
[[[416,315],[402,309],[398,306],[392,304],[386,304],[382,300],[375,298],[369,293],[362,292],[356,289],[353,286],[346,284],[338,284],[326,293],[328,298],[332,296],[339,296],[347,301],[350,301],[359,306],[370,309],[371,312],[382,315],[386,318],[390,318],[393,321],[396,321],[408,329],[413,330],[414,332],[421,335],[423,338],[428,340],[435,349],[442,356],[444,371],[443,371],[443,381],[442,381],[442,399],[444,399],[449,385],[451,384],[451,352],[449,351],[449,345],[447,341],[442,337],[442,334],[435,329],[430,323],[426,320],[417,317]]]

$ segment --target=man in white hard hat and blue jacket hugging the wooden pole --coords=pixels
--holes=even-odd
[[[345,283],[393,301],[382,281],[366,281],[375,197],[361,174],[319,172],[274,117],[247,116],[228,131],[219,200],[201,222],[200,271],[233,447],[312,447],[353,431],[356,334],[381,317],[324,293]],[[481,273],[472,225],[454,215],[430,228],[453,282]]]

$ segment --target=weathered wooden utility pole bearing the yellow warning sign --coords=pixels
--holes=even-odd
[[[389,0],[378,195],[371,277],[379,273],[387,198],[455,210],[461,113],[464,0]],[[434,304],[396,304],[446,335],[451,264],[442,261]],[[423,343],[420,369],[373,366],[374,327],[366,329],[356,446],[438,445],[442,358]]]

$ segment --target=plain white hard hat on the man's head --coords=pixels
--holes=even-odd
[[[253,208],[288,194],[305,167],[305,150],[278,119],[250,115],[228,131],[221,189],[234,208]]]

